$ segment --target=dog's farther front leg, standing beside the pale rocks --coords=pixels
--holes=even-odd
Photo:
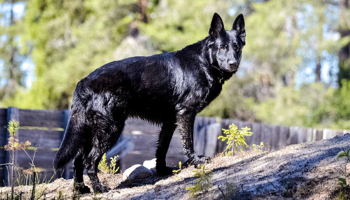
[[[176,129],[175,120],[163,122],[159,133],[156,157],[156,170],[160,175],[171,174],[172,169],[166,165],[166,155],[169,149],[170,141],[172,140]]]

